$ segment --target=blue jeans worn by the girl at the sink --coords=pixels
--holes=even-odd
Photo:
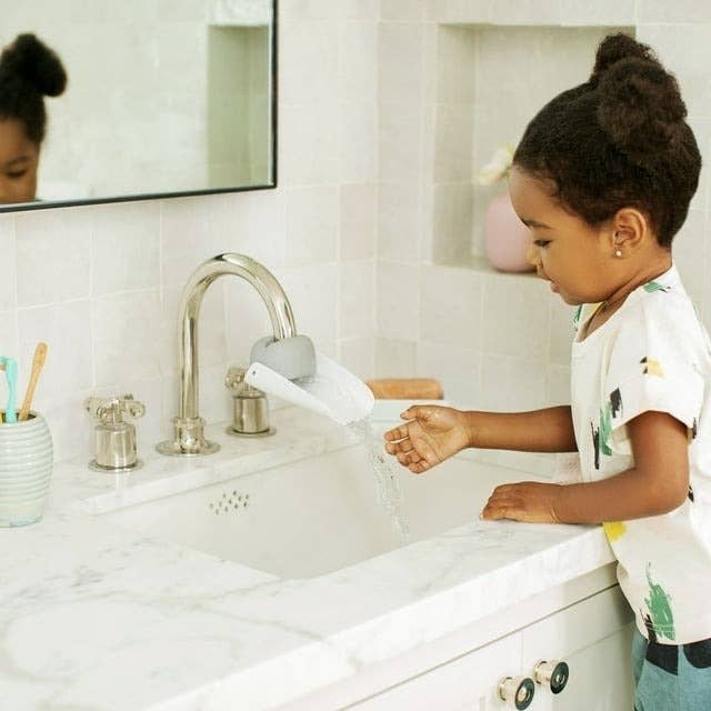
[[[634,630],[634,711],[711,709],[711,639],[693,644],[660,644]]]

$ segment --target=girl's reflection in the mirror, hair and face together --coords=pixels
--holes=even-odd
[[[58,97],[67,74],[34,34],[20,34],[0,54],[0,204],[31,202],[37,193],[44,96]]]

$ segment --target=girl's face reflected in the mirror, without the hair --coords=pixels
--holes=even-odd
[[[37,192],[39,149],[16,119],[0,121],[0,204],[31,202]]]

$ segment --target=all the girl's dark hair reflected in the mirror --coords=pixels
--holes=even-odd
[[[38,147],[44,139],[44,97],[58,97],[67,86],[59,57],[34,34],[19,34],[0,54],[0,120],[22,122]]]

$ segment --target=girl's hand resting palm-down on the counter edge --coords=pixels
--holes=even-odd
[[[481,512],[482,519],[513,519],[529,523],[559,523],[554,501],[559,484],[522,481],[497,487]]]

